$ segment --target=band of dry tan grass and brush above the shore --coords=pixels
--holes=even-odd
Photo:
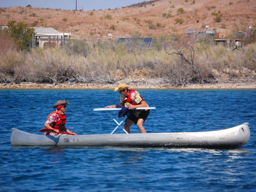
[[[183,46],[182,41],[178,44],[180,48]],[[133,81],[153,78],[159,83],[182,86],[256,78],[256,43],[247,44],[246,52],[191,43],[195,51],[193,61],[185,49],[183,56],[187,60],[178,54],[168,55],[162,48],[131,49],[113,42],[82,45],[76,47],[76,43],[71,43],[65,50],[37,48],[31,52],[15,49],[2,52],[0,83],[115,83],[127,78]],[[177,52],[172,45],[166,47],[169,53]]]

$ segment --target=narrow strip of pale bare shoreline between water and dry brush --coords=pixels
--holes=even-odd
[[[127,83],[134,89],[175,89],[175,90],[193,90],[193,89],[256,89],[256,81],[223,81],[218,83],[205,84],[187,84],[183,86],[172,86],[169,83],[149,83],[119,81],[113,84],[109,83],[0,83],[0,89],[114,89],[119,83]]]

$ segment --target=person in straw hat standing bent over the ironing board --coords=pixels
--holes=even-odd
[[[128,107],[128,109],[136,109],[138,107],[149,107],[145,102],[139,92],[136,90],[128,89],[131,86],[126,85],[125,83],[121,83],[120,85],[114,88],[114,91],[118,91],[120,95],[120,104],[107,106],[106,108],[115,108],[119,106]],[[130,126],[134,123],[138,126],[141,133],[147,133],[145,128],[143,127],[143,123],[147,119],[149,115],[149,109],[140,109],[132,112],[130,116],[125,121],[125,130],[130,133]]]

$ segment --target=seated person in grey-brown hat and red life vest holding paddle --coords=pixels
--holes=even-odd
[[[54,109],[57,107],[57,110],[48,115],[48,119],[44,124],[46,128],[56,131],[56,133],[50,133],[50,135],[57,135],[60,131],[77,135],[65,127],[66,115],[64,112],[67,109],[67,104],[69,104],[69,102],[64,99],[55,102]]]

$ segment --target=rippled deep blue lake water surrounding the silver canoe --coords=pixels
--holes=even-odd
[[[138,90],[151,107],[149,133],[210,131],[249,123],[237,149],[12,147],[11,128],[38,133],[57,100],[66,127],[111,133],[116,124],[93,108],[119,103],[113,90],[0,90],[0,191],[256,191],[256,90]],[[117,112],[112,112],[117,118]],[[136,125],[131,133],[138,133]],[[116,133],[123,133],[117,129]]]

